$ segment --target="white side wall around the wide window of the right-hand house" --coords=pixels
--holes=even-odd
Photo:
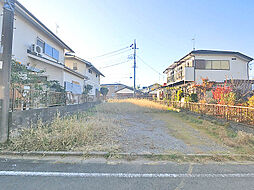
[[[236,58],[236,60],[232,60]],[[226,79],[248,80],[247,61],[235,55],[196,55],[195,59],[205,60],[228,60],[229,70],[199,70],[195,69],[195,81],[202,83],[202,78],[208,78],[210,81],[223,82]]]

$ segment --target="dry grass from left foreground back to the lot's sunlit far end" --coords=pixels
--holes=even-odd
[[[111,100],[90,112],[56,117],[51,124],[38,122],[30,128],[11,132],[8,143],[0,150],[13,151],[117,151],[117,137],[123,132],[122,113],[150,113],[168,110],[148,100]]]

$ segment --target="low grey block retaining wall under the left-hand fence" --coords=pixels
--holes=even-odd
[[[51,122],[58,113],[60,116],[72,115],[77,112],[86,111],[98,103],[99,102],[86,102],[83,104],[11,112],[10,129],[29,127],[32,123],[37,123],[39,120],[41,120],[43,123]]]

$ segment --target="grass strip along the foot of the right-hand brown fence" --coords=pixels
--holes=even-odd
[[[219,124],[216,120],[207,121],[200,116],[188,115],[187,113],[174,112],[174,115],[199,129],[221,143],[234,149],[236,153],[254,154],[254,136],[244,131],[235,132],[230,128],[229,123]]]

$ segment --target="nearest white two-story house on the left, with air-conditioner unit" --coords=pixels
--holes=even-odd
[[[1,7],[3,4],[0,1]],[[2,24],[0,19],[0,31]],[[83,85],[85,75],[64,65],[65,53],[74,51],[18,1],[14,28],[13,59],[35,71],[44,71],[47,80],[59,81],[62,86],[66,82]],[[82,87],[76,88],[76,93],[80,94]]]

